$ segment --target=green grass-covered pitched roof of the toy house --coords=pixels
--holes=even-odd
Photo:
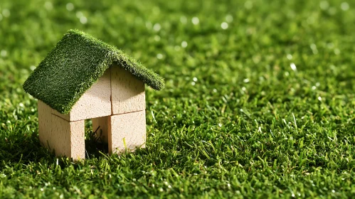
[[[164,80],[112,45],[82,31],[70,30],[23,84],[23,90],[60,113],[75,102],[111,65],[119,65],[152,87],[164,88]]]

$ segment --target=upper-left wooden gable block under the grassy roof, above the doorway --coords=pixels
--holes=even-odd
[[[110,68],[75,103],[69,114],[53,114],[70,122],[105,117],[111,114],[111,77]]]

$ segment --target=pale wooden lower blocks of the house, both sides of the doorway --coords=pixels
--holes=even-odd
[[[56,156],[85,159],[85,120],[70,122],[38,100],[38,134]],[[92,119],[92,129],[108,143],[109,153],[121,154],[145,146],[145,110]]]

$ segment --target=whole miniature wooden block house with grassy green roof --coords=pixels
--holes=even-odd
[[[144,84],[164,81],[121,50],[70,30],[23,84],[38,99],[41,144],[58,156],[85,158],[85,119],[110,153],[144,147]]]

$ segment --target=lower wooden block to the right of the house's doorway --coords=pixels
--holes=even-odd
[[[108,136],[109,153],[124,153],[126,146],[127,151],[134,151],[136,147],[145,147],[145,141],[145,110],[117,114],[110,117]]]

